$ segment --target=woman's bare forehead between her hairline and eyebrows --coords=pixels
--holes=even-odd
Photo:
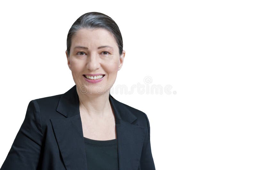
[[[82,28],[78,30],[72,37],[71,48],[77,45],[89,47],[108,45],[118,48],[113,34],[102,28]]]

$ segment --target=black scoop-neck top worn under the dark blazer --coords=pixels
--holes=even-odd
[[[117,139],[93,140],[84,137],[88,170],[118,170]]]

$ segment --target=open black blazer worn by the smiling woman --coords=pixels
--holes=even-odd
[[[155,170],[145,113],[109,94],[116,118],[119,170]],[[1,170],[88,170],[76,85],[29,102]]]

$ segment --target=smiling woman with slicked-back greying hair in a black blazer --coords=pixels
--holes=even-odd
[[[75,84],[29,102],[1,170],[153,170],[148,117],[110,95],[125,51],[115,21],[85,13],[66,56]]]

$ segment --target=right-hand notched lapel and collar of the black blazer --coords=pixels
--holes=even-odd
[[[137,117],[124,107],[123,103],[118,102],[111,95],[109,95],[109,101],[116,117],[119,170],[138,170],[147,129],[132,124]]]

